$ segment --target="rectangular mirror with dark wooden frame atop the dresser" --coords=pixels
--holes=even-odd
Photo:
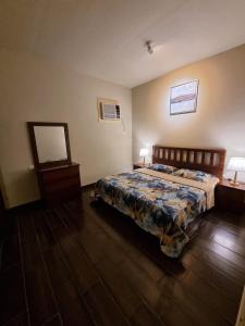
[[[35,167],[71,163],[66,123],[27,123]]]

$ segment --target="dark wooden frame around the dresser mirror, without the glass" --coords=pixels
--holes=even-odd
[[[68,153],[66,160],[51,161],[51,162],[45,162],[45,163],[39,162],[38,151],[37,151],[37,142],[36,142],[36,137],[35,137],[35,131],[34,131],[34,127],[36,127],[36,126],[63,127],[64,128],[64,137],[65,137],[66,153]],[[69,128],[68,128],[66,123],[27,122],[27,128],[28,128],[30,147],[32,147],[32,152],[33,152],[34,165],[36,168],[48,168],[48,167],[71,164],[71,162],[72,162],[71,148],[70,148],[70,140],[69,140]]]

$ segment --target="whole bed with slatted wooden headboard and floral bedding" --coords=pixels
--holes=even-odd
[[[177,258],[189,240],[189,223],[215,205],[224,159],[223,149],[155,146],[150,168],[101,178],[95,196],[157,236],[164,254]]]

